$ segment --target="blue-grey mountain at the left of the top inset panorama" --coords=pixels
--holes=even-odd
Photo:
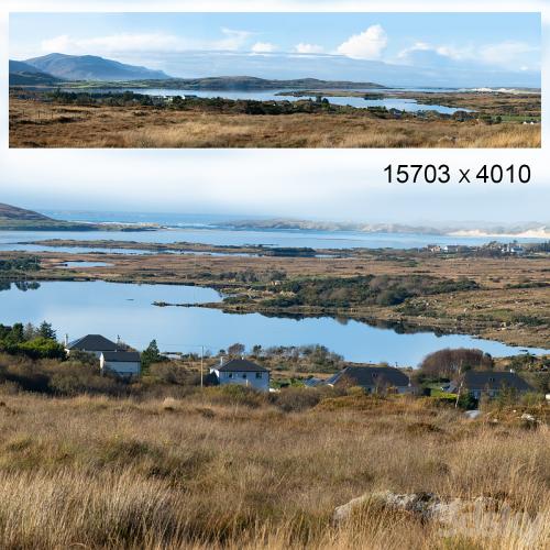
[[[63,80],[143,80],[169,78],[162,70],[125,65],[96,55],[48,54],[24,62]]]

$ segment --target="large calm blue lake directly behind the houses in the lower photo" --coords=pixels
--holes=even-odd
[[[46,282],[37,289],[24,292],[12,284],[0,292],[0,322],[47,320],[57,329],[59,338],[65,333],[70,339],[101,333],[114,340],[120,334],[122,340],[140,350],[154,338],[165,352],[197,352],[201,344],[217,352],[235,342],[248,349],[254,344],[322,344],[349,361],[387,361],[413,366],[426,354],[449,346],[479,348],[493,355],[512,355],[525,350],[468,336],[402,334],[392,329],[329,317],[295,320],[152,305],[153,301],[200,304],[220,299],[216,290],[194,286]]]

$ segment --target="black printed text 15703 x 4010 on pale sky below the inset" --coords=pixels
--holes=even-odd
[[[481,168],[458,168],[453,170],[447,164],[388,164],[384,172],[389,184],[528,184],[531,179],[531,168],[527,164],[504,167],[499,164],[484,164]]]

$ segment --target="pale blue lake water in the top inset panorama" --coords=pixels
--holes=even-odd
[[[199,98],[224,98],[224,99],[251,99],[257,101],[298,101],[300,99],[316,99],[316,96],[279,96],[279,92],[288,92],[288,90],[267,90],[267,91],[228,91],[228,90],[178,90],[168,88],[130,88],[130,91],[135,94],[144,94],[147,96],[197,96]],[[110,91],[121,91],[110,90]],[[366,92],[378,92],[380,90],[365,90]],[[468,109],[455,109],[440,105],[422,105],[415,99],[363,99],[359,97],[327,97],[327,99],[339,106],[350,106],[360,109],[367,107],[385,107],[386,109],[399,109],[400,111],[438,111],[447,114],[452,114],[455,111],[465,111]]]

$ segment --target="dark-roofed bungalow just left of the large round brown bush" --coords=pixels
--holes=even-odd
[[[327,380],[330,386],[360,386],[370,394],[413,393],[409,377],[392,366],[348,366]]]

